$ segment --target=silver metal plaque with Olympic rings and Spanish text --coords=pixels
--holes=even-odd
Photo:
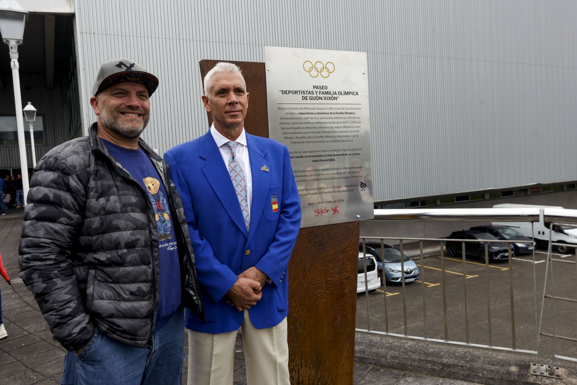
[[[366,53],[265,47],[264,58],[269,137],[290,151],[301,227],[373,218]]]

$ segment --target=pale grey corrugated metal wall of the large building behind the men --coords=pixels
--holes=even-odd
[[[375,200],[577,180],[574,0],[76,7],[81,99],[88,106],[101,62],[144,65],[161,82],[144,133],[160,154],[207,130],[201,59],[261,62],[267,45],[321,48],[368,53]]]

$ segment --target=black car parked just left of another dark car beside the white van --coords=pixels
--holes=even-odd
[[[495,240],[498,241],[496,237],[492,236],[485,231],[477,230],[462,230],[454,231],[448,236],[450,239],[456,240]],[[465,244],[465,254],[477,257],[481,263],[485,263],[485,242],[464,242]],[[447,255],[449,257],[454,257],[457,254],[462,253],[461,242],[447,241],[445,243],[445,249],[447,249]],[[489,243],[488,247],[489,262],[493,260],[508,260],[509,250],[505,243],[495,242]],[[515,256],[515,252],[511,250],[511,256]]]

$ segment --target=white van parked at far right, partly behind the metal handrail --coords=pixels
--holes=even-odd
[[[533,224],[533,232],[531,231],[531,222],[492,222],[491,225],[502,225],[512,227],[519,231],[526,237],[534,237],[535,242],[539,245],[549,244],[549,223],[545,224],[543,220],[544,208],[563,208],[560,206],[541,206],[536,204],[515,204],[503,203],[496,204],[493,208],[538,208],[539,222]],[[551,233],[551,240],[555,243],[577,244],[577,229],[573,227],[553,225]],[[571,252],[572,248],[567,246],[557,246],[557,251],[560,253]]]

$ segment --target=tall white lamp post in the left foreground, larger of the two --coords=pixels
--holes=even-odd
[[[14,84],[14,104],[16,104],[16,126],[18,129],[18,147],[20,148],[20,167],[24,203],[28,196],[28,162],[26,161],[26,146],[24,141],[24,122],[22,119],[22,98],[20,96],[20,74],[18,73],[18,46],[22,44],[24,25],[28,12],[16,0],[0,0],[0,33],[2,41],[10,47],[10,67],[12,67],[12,83]]]

